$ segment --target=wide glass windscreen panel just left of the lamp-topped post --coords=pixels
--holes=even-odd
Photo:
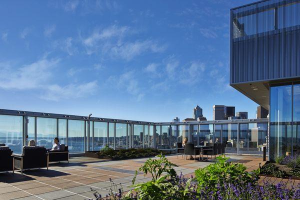
[[[84,151],[84,121],[68,120],[68,150]]]

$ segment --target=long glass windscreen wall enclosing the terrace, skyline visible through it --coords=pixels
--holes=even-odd
[[[187,137],[195,145],[226,143],[225,153],[262,154],[268,145],[267,119],[147,122],[0,109],[0,143],[14,153],[30,139],[50,148],[53,138],[68,145],[70,153],[114,149],[176,149]],[[26,139],[26,136],[27,139]]]

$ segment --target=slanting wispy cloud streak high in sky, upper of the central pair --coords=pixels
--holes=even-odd
[[[110,37],[120,37],[129,30],[128,26],[111,25],[102,30],[96,29],[94,32],[83,39],[83,44],[86,46],[94,46],[99,40],[108,39]]]

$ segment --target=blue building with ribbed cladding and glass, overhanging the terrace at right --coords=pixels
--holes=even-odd
[[[300,1],[261,0],[232,8],[230,85],[269,111],[271,160],[300,152],[298,81]]]

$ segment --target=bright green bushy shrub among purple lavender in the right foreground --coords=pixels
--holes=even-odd
[[[258,179],[259,169],[252,173],[246,172],[246,167],[239,163],[226,162],[228,157],[218,156],[217,162],[204,168],[195,170],[195,179],[198,181],[197,189],[208,188],[216,191],[217,184],[223,182],[238,182],[240,184],[254,183]]]

